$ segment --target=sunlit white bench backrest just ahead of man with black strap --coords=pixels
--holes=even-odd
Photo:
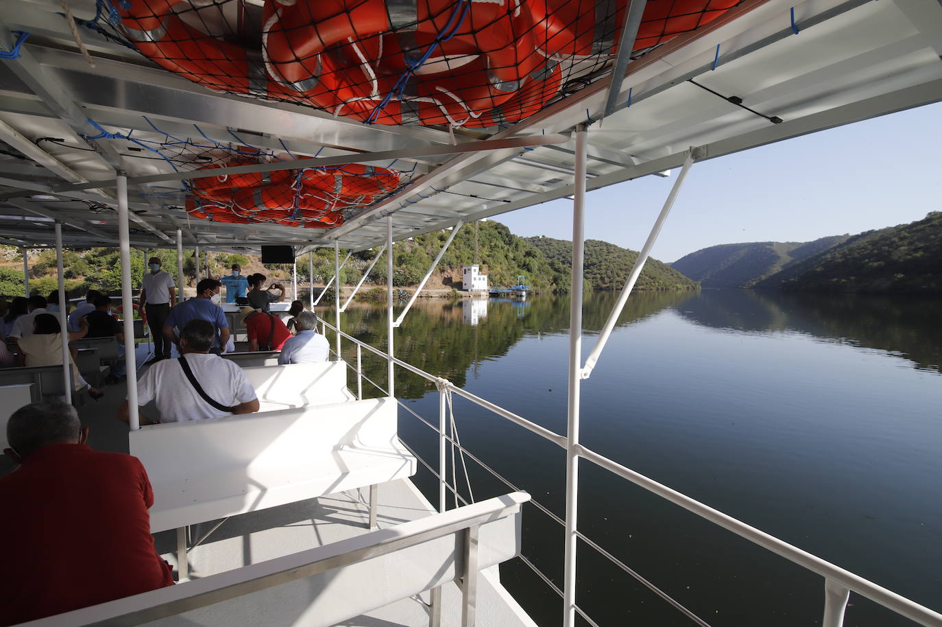
[[[342,361],[254,366],[243,371],[264,411],[351,400],[347,364]]]

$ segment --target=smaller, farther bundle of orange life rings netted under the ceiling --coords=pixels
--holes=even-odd
[[[245,165],[244,161],[203,170]],[[399,174],[373,166],[248,173],[195,178],[189,184],[187,214],[220,223],[278,223],[332,228],[344,223],[344,209],[369,206],[396,190]]]

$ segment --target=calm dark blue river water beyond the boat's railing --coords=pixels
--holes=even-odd
[[[614,300],[588,295],[584,355]],[[556,296],[420,301],[396,332],[395,354],[564,434],[568,306]],[[942,610],[940,322],[938,301],[637,293],[583,382],[582,443]],[[384,347],[382,305],[351,306],[343,325]],[[344,354],[354,363],[350,347]],[[384,384],[384,363],[364,361]],[[396,391],[437,424],[430,383],[398,369]],[[365,396],[377,394],[365,385]],[[562,516],[559,447],[459,397],[454,416],[469,452]],[[402,409],[399,435],[437,466],[436,434]],[[509,491],[466,463],[476,500]],[[460,459],[457,468],[467,498]],[[437,482],[421,465],[415,483],[437,503]],[[817,575],[590,462],[581,462],[579,485],[579,529],[707,623],[820,625]],[[556,521],[525,508],[524,554],[560,588],[562,539]],[[602,627],[694,624],[585,544],[578,564],[577,603]],[[560,624],[560,597],[526,565],[514,560],[501,577],[542,626]],[[845,624],[912,623],[852,594]]]

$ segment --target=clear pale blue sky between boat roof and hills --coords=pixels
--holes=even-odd
[[[639,250],[673,183],[646,176],[589,192],[586,238]],[[694,164],[652,256],[854,234],[934,210],[942,210],[942,103]],[[520,236],[572,239],[570,200],[495,220]]]

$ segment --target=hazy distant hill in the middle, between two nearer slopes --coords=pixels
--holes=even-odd
[[[836,235],[814,241],[752,241],[703,248],[671,266],[705,288],[750,288],[810,256],[849,239]]]

